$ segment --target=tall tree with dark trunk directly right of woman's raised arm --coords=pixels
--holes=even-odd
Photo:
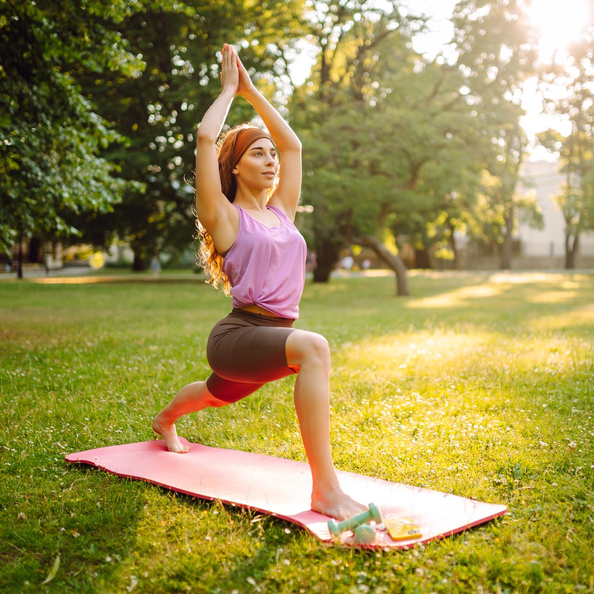
[[[381,48],[402,53],[410,31],[422,21],[406,18],[396,1],[378,7],[327,0],[312,4],[308,22],[318,63],[310,80],[295,89],[290,112],[297,114],[292,122],[304,140],[304,198],[314,206],[314,281],[325,282],[352,239],[353,222],[360,226],[368,219],[368,209],[357,208],[372,204],[364,195],[371,198],[374,189],[386,186],[380,176],[359,168],[363,153],[374,149],[371,128],[356,125],[370,115],[366,108],[377,87]]]

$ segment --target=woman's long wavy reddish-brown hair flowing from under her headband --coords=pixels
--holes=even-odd
[[[235,192],[237,190],[237,182],[233,171],[233,148],[235,147],[235,139],[239,132],[245,128],[255,128],[251,124],[240,124],[228,131],[223,132],[217,140],[217,159],[219,160],[219,176],[221,180],[221,190],[227,197],[229,202],[235,200]],[[274,188],[267,189],[266,202],[270,200]],[[223,257],[217,252],[214,247],[213,239],[210,233],[204,228],[198,217],[196,217],[196,239],[200,241],[200,247],[196,254],[196,261],[198,266],[203,268],[206,273],[206,282],[210,283],[215,289],[220,285],[223,287],[225,295],[231,294],[231,285],[227,275],[223,272]]]

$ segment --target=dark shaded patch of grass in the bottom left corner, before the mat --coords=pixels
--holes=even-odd
[[[37,470],[49,469],[34,467],[30,472]],[[65,469],[61,479],[64,482],[54,482],[50,492],[40,486],[42,481],[28,488],[18,477],[6,481],[14,486],[10,508],[20,511],[2,522],[2,592],[39,592],[40,586],[59,592],[97,591],[96,584],[113,580],[118,560],[134,546],[144,507],[142,486],[116,484],[105,474],[80,467]],[[58,555],[55,577],[43,586]]]

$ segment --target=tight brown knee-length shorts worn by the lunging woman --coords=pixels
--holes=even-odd
[[[206,380],[208,391],[219,400],[237,402],[269,381],[294,374],[285,352],[293,323],[233,309],[208,337],[206,356],[213,370]]]

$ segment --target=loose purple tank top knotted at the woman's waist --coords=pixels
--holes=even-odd
[[[270,228],[233,206],[239,213],[239,232],[223,260],[233,307],[255,304],[296,320],[305,285],[305,239],[279,208],[267,207],[280,220],[280,226]]]

